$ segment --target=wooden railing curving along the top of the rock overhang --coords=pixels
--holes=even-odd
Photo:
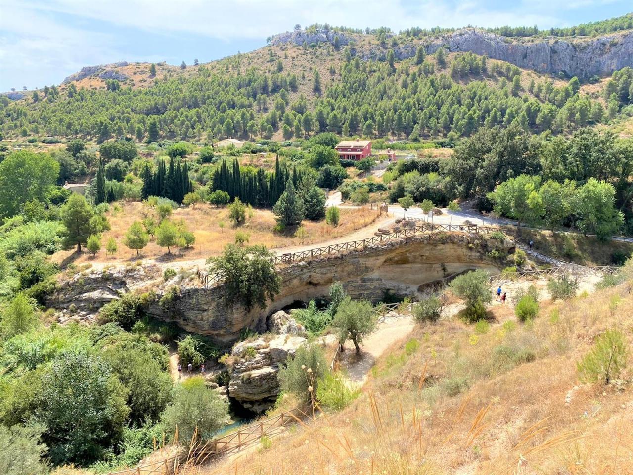
[[[489,234],[491,232],[503,232],[503,229],[496,226],[479,226],[476,224],[422,224],[414,227],[405,227],[398,231],[384,232],[371,238],[360,239],[359,241],[348,241],[346,243],[332,244],[331,246],[323,246],[320,248],[312,248],[305,251],[282,254],[273,257],[275,265],[293,264],[298,262],[306,262],[318,257],[337,255],[348,253],[350,251],[365,250],[370,246],[385,243],[394,239],[404,239],[425,232],[468,232],[475,234]],[[220,272],[206,272],[197,269],[197,276],[203,282],[205,288],[214,286],[223,280],[223,274]]]

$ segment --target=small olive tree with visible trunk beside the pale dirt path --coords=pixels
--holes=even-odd
[[[358,345],[362,343],[365,336],[373,332],[376,320],[371,303],[365,300],[351,300],[351,298],[346,297],[336,310],[332,326],[339,331],[341,345],[346,340],[351,339],[356,353],[360,353]]]

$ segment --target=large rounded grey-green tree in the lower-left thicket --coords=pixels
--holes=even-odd
[[[89,377],[87,377],[89,376]],[[66,351],[44,377],[42,439],[55,464],[86,464],[120,439],[129,413],[123,386],[103,358]]]

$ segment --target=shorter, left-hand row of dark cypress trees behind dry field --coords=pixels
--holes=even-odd
[[[147,196],[162,196],[176,203],[182,203],[185,194],[193,191],[187,162],[181,163],[180,160],[176,161],[174,158],[170,158],[168,169],[165,167],[164,160],[158,162],[155,171],[146,164],[141,171],[141,178],[143,199]]]

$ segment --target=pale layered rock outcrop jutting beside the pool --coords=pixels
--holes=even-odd
[[[299,336],[279,335],[235,345],[231,353],[234,362],[229,373],[229,396],[253,412],[268,409],[279,394],[280,365],[306,341]]]

